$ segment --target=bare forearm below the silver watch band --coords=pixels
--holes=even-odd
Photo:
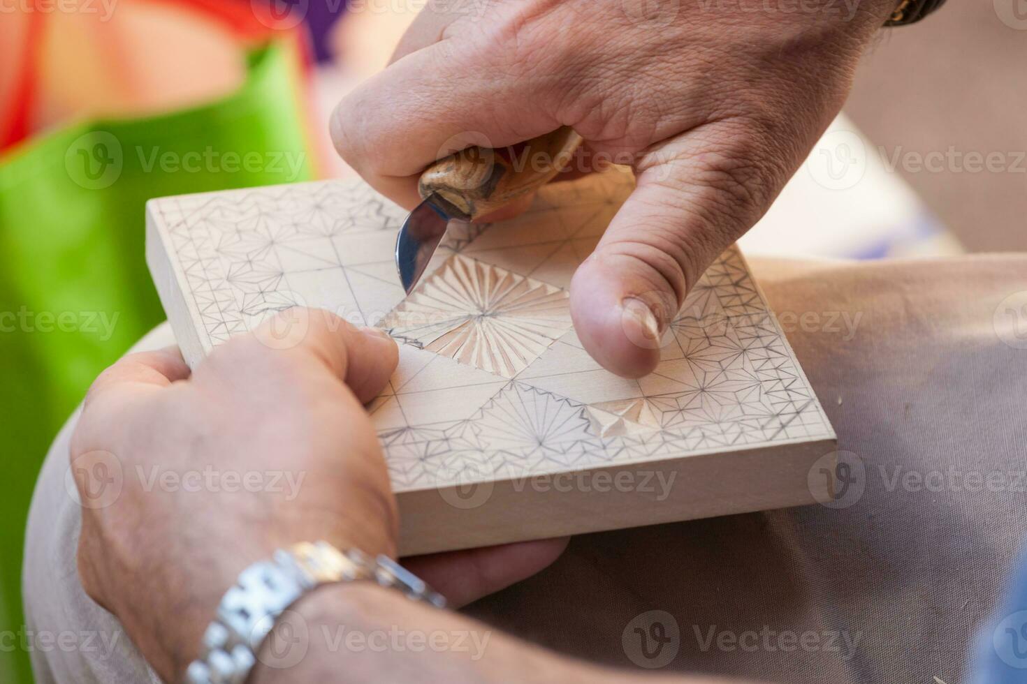
[[[370,582],[324,587],[301,600],[287,619],[300,630],[287,631],[292,634],[283,633],[277,643],[277,637],[269,637],[252,684],[700,684],[696,679],[635,675],[572,660]],[[301,643],[304,629],[307,637]],[[280,667],[287,663],[290,667]]]

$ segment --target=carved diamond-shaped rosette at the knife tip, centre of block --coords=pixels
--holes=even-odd
[[[397,337],[503,377],[570,326],[566,291],[459,254],[382,322]]]

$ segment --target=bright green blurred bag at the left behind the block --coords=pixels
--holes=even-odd
[[[144,258],[146,201],[312,179],[300,69],[289,45],[268,44],[250,53],[244,85],[225,98],[73,125],[0,157],[0,396],[8,445],[0,632],[25,629],[24,530],[53,435],[97,374],[164,319]],[[205,159],[196,162],[197,151]],[[236,161],[244,158],[254,163]],[[7,649],[10,643],[0,642],[0,681],[31,682],[28,654]]]

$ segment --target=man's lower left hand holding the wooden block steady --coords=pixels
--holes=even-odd
[[[93,384],[72,438],[79,574],[167,681],[222,595],[275,549],[325,539],[395,556],[397,513],[363,403],[395,343],[291,310],[190,374],[178,350],[134,354]],[[455,604],[550,563],[565,540],[411,559]]]

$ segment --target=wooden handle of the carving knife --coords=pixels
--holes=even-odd
[[[440,159],[421,174],[418,192],[442,197],[451,215],[471,219],[548,183],[570,164],[581,136],[570,126],[534,137],[512,153],[472,147]]]

